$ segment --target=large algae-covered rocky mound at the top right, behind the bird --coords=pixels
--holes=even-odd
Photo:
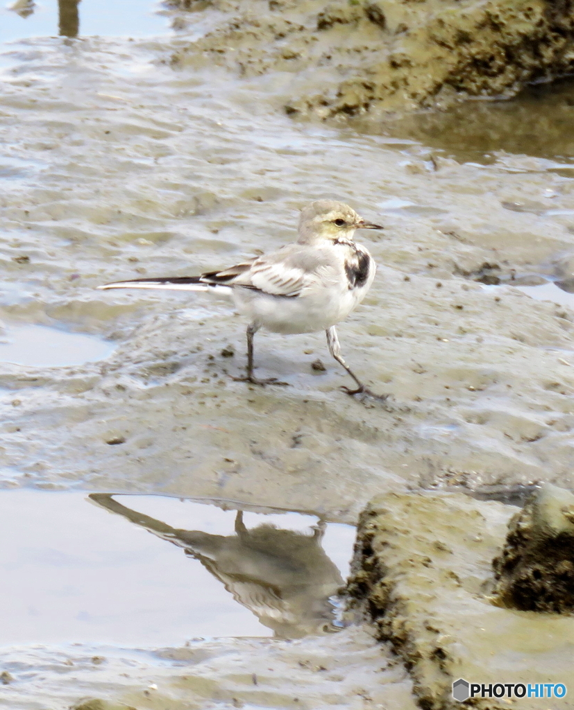
[[[271,94],[275,85],[291,92],[288,114],[328,119],[511,96],[574,69],[567,0],[220,0],[205,12],[215,28],[172,62],[269,75]]]

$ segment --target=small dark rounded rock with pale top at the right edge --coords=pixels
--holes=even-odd
[[[521,611],[574,611],[574,495],[546,484],[509,523],[495,594]]]

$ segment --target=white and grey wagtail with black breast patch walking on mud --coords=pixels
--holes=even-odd
[[[227,293],[237,310],[249,318],[247,375],[236,379],[256,385],[287,384],[277,378],[261,380],[254,376],[253,339],[261,327],[283,334],[325,330],[330,354],[357,384],[354,389],[342,389],[350,395],[372,395],[342,358],[335,330],[335,324],[364,299],[377,269],[369,251],[353,241],[355,229],[383,227],[365,222],[347,204],[317,200],[302,210],[295,244],[200,276],[136,278],[98,288]]]

